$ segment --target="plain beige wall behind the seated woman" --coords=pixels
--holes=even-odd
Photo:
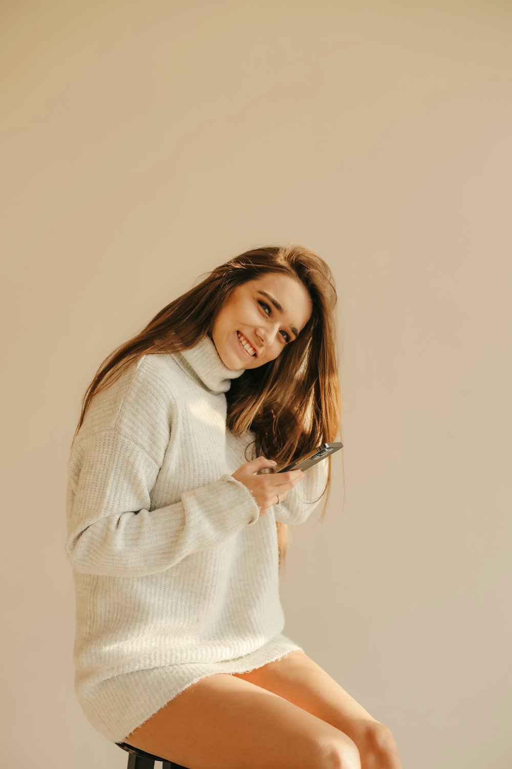
[[[510,767],[511,39],[497,0],[0,3],[2,766],[126,765],[73,692],[94,371],[202,272],[295,241],[339,290],[346,494],[338,456],[285,632],[405,769]]]

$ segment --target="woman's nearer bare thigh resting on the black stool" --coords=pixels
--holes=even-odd
[[[125,741],[193,769],[360,766],[345,734],[279,695],[223,673],[187,687]]]

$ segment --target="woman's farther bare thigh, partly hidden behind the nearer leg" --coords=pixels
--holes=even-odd
[[[331,724],[351,737],[360,749],[367,742],[368,728],[382,725],[303,651],[291,651],[249,673],[233,675],[272,691]]]

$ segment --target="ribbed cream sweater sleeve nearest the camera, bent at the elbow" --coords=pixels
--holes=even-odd
[[[134,577],[164,571],[259,518],[253,495],[228,474],[151,510],[159,467],[113,429],[84,438],[68,471],[66,552],[84,574]]]

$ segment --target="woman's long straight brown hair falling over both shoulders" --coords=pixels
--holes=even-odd
[[[205,335],[211,338],[216,316],[231,291],[268,273],[300,281],[309,291],[312,315],[299,338],[286,345],[275,360],[246,369],[232,380],[226,392],[227,428],[236,435],[253,431],[253,457],[263,454],[278,465],[288,464],[324,441],[334,441],[338,433],[342,438],[334,280],[325,261],[301,245],[245,251],[216,267],[198,285],[160,310],[98,368],[82,398],[74,436],[95,394],[117,381],[142,355],[172,354],[194,347]],[[246,452],[247,461],[249,458]],[[331,459],[327,461],[327,494],[321,520],[331,486]],[[345,483],[345,472],[343,477]],[[286,558],[288,529],[286,524],[276,525],[280,571]]]

